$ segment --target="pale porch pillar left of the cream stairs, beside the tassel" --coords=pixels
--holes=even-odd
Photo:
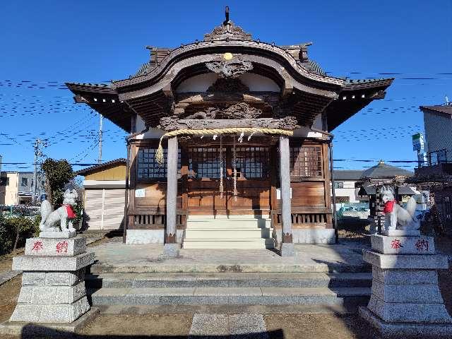
[[[167,225],[165,229],[164,254],[169,257],[179,255],[177,244],[177,137],[168,138],[167,152]]]

